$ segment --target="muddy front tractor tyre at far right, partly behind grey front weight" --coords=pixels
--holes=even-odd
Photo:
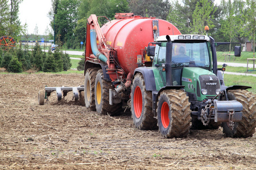
[[[242,121],[234,123],[233,130],[229,122],[222,122],[223,133],[232,138],[252,137],[256,127],[256,96],[247,90],[229,90],[228,99],[243,105],[243,116]]]

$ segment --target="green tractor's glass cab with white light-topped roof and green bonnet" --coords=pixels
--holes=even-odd
[[[172,84],[174,86],[185,86],[187,92],[196,95],[196,86],[199,84],[197,80],[201,74],[209,74],[216,77],[212,73],[212,60],[210,57],[209,37],[204,35],[171,35],[171,68],[172,68]],[[156,38],[156,42],[152,42],[155,48],[152,66],[156,67],[162,75],[163,82],[166,82],[166,36]],[[149,50],[150,51],[150,50]],[[149,54],[153,56],[152,54]],[[214,79],[213,78],[213,79]],[[216,80],[215,84],[219,84]],[[217,89],[220,87],[217,86]],[[193,95],[193,99],[201,98],[199,91],[197,97]],[[216,95],[214,92],[211,95]],[[206,96],[204,96],[206,98]],[[198,99],[203,100],[203,99]]]

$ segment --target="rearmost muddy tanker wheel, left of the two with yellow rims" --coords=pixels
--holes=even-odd
[[[94,100],[95,78],[98,68],[87,69],[84,78],[84,103],[90,111],[96,111]]]

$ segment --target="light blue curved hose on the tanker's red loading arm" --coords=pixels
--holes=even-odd
[[[100,61],[107,62],[108,58],[104,54],[98,51],[97,48],[97,41],[96,41],[96,30],[95,29],[90,29],[90,46],[92,48],[92,52],[94,56],[96,56]]]

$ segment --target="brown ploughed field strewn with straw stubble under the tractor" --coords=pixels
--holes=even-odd
[[[44,86],[79,86],[82,74],[0,74],[0,169],[256,169],[256,137],[222,128],[163,138],[135,129],[129,109],[87,111],[72,92],[38,105]]]

